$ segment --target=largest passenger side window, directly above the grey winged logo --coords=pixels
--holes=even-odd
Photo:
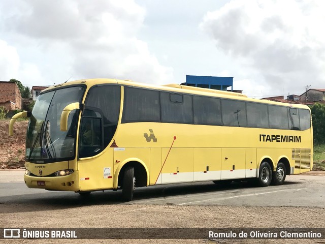
[[[139,121],[160,122],[159,92],[124,87],[122,123]]]

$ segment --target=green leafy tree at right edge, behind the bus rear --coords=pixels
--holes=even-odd
[[[311,108],[314,141],[325,144],[325,104],[315,103]]]

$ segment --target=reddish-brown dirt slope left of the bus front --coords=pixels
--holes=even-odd
[[[9,136],[10,119],[0,120],[0,167],[21,169],[25,166],[25,142],[28,121],[16,121],[14,135]]]

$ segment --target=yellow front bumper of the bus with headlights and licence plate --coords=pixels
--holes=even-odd
[[[38,177],[24,175],[28,188],[40,188],[53,191],[79,191],[79,172],[74,171],[67,176]]]

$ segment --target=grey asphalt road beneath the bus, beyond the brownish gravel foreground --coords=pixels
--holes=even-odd
[[[52,205],[121,204],[121,192],[93,192],[82,197],[74,192],[28,189],[23,171],[0,171],[0,204]],[[64,203],[63,203],[64,202]],[[283,186],[260,188],[247,182],[215,185],[212,181],[137,188],[127,204],[316,206],[325,207],[325,175],[290,175]]]

